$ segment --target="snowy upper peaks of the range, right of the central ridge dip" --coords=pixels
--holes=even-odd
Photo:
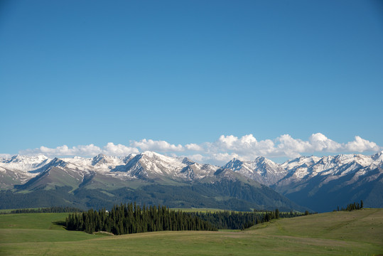
[[[362,154],[340,154],[338,156],[301,156],[283,164],[276,164],[260,156],[254,161],[232,159],[222,168],[231,169],[243,176],[274,188],[291,189],[291,184],[306,183],[312,178],[322,177],[320,184],[334,181],[348,174],[355,174],[348,184],[358,181],[358,177],[372,174],[374,169],[382,169],[383,151],[372,156]],[[374,176],[378,178],[379,176]],[[374,179],[370,178],[370,179]]]

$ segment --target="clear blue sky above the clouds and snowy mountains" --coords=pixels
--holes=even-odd
[[[0,153],[373,153],[382,46],[382,1],[1,1]]]

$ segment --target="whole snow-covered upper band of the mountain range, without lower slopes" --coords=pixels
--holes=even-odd
[[[1,170],[14,171],[24,176],[36,176],[55,166],[77,171],[82,174],[97,173],[119,178],[146,178],[193,181],[216,175],[220,168],[210,164],[198,164],[186,157],[171,157],[153,151],[129,156],[106,156],[99,154],[93,158],[73,157],[49,159],[46,156],[12,156],[0,159]],[[323,182],[330,182],[342,176],[355,174],[350,182],[366,177],[369,170],[383,169],[383,151],[372,156],[362,154],[340,154],[338,156],[301,156],[276,164],[259,156],[254,161],[232,159],[221,169],[231,170],[237,175],[251,178],[266,186],[280,186],[302,183],[318,176]],[[21,180],[21,179],[20,179]]]

